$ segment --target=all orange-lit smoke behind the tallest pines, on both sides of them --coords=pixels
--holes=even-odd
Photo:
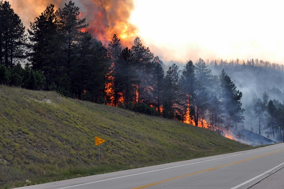
[[[81,18],[86,18],[89,24],[85,31],[94,38],[108,44],[113,34],[123,39],[123,46],[130,46],[136,37],[137,29],[128,22],[131,11],[134,9],[133,1],[116,0],[74,0],[75,6],[80,8]],[[55,8],[63,8],[67,1],[60,0],[12,0],[10,4],[28,28],[29,23],[39,16],[50,4]]]

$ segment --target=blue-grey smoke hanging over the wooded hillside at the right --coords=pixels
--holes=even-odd
[[[207,62],[212,69],[214,75],[219,75],[224,68],[231,77],[238,90],[243,93],[242,104],[245,108],[245,120],[240,124],[239,128],[252,131],[258,134],[259,125],[253,106],[258,98],[263,98],[263,94],[267,93],[268,100],[276,100],[284,102],[283,82],[283,65],[272,64],[268,61],[258,59],[248,60],[211,60]],[[273,138],[268,129],[268,113],[264,115],[261,122],[261,135],[272,140],[278,141],[279,136]],[[251,136],[252,137],[252,136]],[[278,138],[279,137],[279,138]]]

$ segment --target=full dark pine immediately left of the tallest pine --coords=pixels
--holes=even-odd
[[[28,29],[31,43],[29,47],[32,68],[39,70],[46,78],[46,89],[55,82],[59,85],[62,76],[59,59],[61,38],[58,32],[59,21],[54,5],[47,7]]]

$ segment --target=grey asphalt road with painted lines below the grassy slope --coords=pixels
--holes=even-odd
[[[284,144],[279,143],[249,151],[20,188],[260,188],[257,184],[272,179],[277,172],[279,175],[283,167]],[[264,188],[274,188],[272,184],[276,182],[281,185],[283,181],[274,179],[266,182]]]

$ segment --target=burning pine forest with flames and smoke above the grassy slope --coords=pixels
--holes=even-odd
[[[247,129],[284,141],[284,66],[269,61],[163,63],[136,37],[123,47],[88,32],[79,8],[46,7],[26,30],[0,2],[0,83],[177,119],[216,132]]]

